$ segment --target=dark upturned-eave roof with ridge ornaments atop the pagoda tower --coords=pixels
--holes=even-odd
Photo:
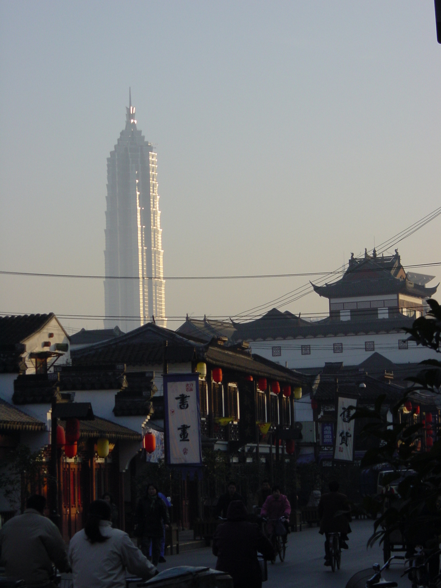
[[[437,286],[426,288],[421,283],[412,282],[401,265],[397,250],[395,255],[387,257],[377,257],[376,254],[369,256],[367,252],[363,258],[352,255],[348,269],[340,280],[325,286],[311,284],[315,292],[329,299],[399,293],[415,298],[430,298],[437,289]]]

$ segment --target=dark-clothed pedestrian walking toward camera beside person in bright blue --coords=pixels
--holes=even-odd
[[[152,564],[158,565],[161,554],[161,539],[164,528],[170,522],[165,502],[158,496],[158,487],[153,482],[147,486],[147,492],[138,502],[135,510],[136,535],[141,537],[141,551],[148,557],[152,544]]]

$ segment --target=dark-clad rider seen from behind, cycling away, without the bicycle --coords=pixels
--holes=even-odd
[[[348,496],[338,492],[339,483],[336,481],[329,482],[329,493],[323,494],[319,502],[320,530],[319,533],[325,533],[325,566],[330,566],[329,555],[329,533],[339,533],[340,547],[348,549],[348,533],[351,532],[349,522],[350,505]]]

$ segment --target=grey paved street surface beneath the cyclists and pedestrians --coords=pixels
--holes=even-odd
[[[349,550],[343,550],[342,566],[332,573],[329,567],[323,566],[323,537],[316,527],[303,528],[302,532],[291,533],[286,549],[285,562],[268,564],[268,582],[263,588],[344,588],[349,578],[360,570],[369,568],[373,563],[383,563],[383,553],[379,546],[366,548],[366,543],[373,530],[371,520],[356,520],[351,523],[352,533],[349,535]],[[175,566],[209,566],[215,567],[216,558],[211,548],[184,552],[175,556],[168,556],[167,563],[159,564],[159,570]],[[403,563],[397,564],[387,572],[386,579],[395,580],[399,588],[410,588],[407,579],[400,579]]]

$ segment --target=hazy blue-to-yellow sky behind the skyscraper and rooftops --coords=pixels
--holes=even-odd
[[[335,270],[441,205],[431,0],[4,0],[0,270],[104,273],[129,86],[158,152],[165,276]],[[405,267],[441,261],[440,229],[399,243]],[[233,316],[309,279],[169,280],[166,314]],[[102,280],[0,275],[0,312],[51,311],[101,328],[63,315],[103,315]]]

